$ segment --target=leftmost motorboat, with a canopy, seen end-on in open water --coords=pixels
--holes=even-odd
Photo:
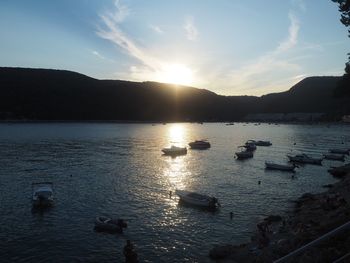
[[[53,204],[53,183],[32,183],[32,200],[34,207],[48,207]]]

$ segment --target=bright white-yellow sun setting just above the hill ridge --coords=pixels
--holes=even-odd
[[[193,83],[193,71],[183,64],[167,64],[159,73],[161,82],[190,86]]]

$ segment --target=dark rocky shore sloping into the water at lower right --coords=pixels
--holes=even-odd
[[[220,245],[209,256],[219,263],[273,262],[350,221],[350,173],[319,194],[304,194],[292,211],[257,224],[251,242]],[[333,262],[350,252],[350,230],[322,241],[286,262]],[[350,255],[345,261],[350,262]]]

